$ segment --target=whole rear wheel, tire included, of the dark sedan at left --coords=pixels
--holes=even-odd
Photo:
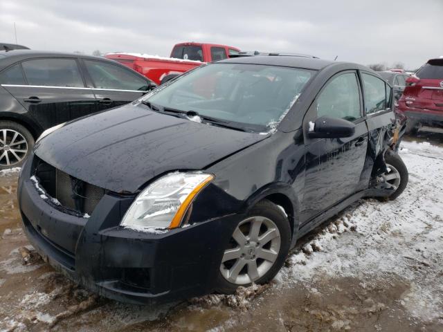
[[[34,145],[33,135],[24,126],[0,120],[0,169],[21,167]]]

